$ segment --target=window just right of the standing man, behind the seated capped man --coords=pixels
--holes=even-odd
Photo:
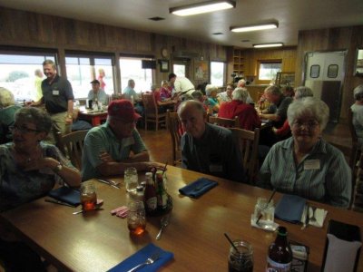
[[[85,98],[92,89],[91,82],[97,79],[107,94],[113,94],[112,56],[82,55],[66,53],[67,79],[72,84],[74,98]]]

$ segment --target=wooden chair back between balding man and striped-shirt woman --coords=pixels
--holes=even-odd
[[[260,129],[246,131],[239,128],[230,128],[233,139],[236,141],[240,150],[243,169],[246,172],[251,184],[257,179],[259,170],[259,139]]]

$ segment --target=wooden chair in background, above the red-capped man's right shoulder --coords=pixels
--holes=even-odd
[[[158,131],[159,124],[166,123],[166,113],[159,113],[158,105],[152,92],[142,93],[142,103],[145,114],[145,131],[149,121],[155,123],[155,130]]]

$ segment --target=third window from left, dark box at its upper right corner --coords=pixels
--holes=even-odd
[[[127,87],[130,79],[135,82],[136,92],[150,91],[152,86],[152,69],[142,69],[143,58],[121,57],[121,89]]]

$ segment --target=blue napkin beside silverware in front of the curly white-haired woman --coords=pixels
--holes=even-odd
[[[294,195],[283,195],[276,205],[275,217],[298,224],[304,211],[306,199]]]

